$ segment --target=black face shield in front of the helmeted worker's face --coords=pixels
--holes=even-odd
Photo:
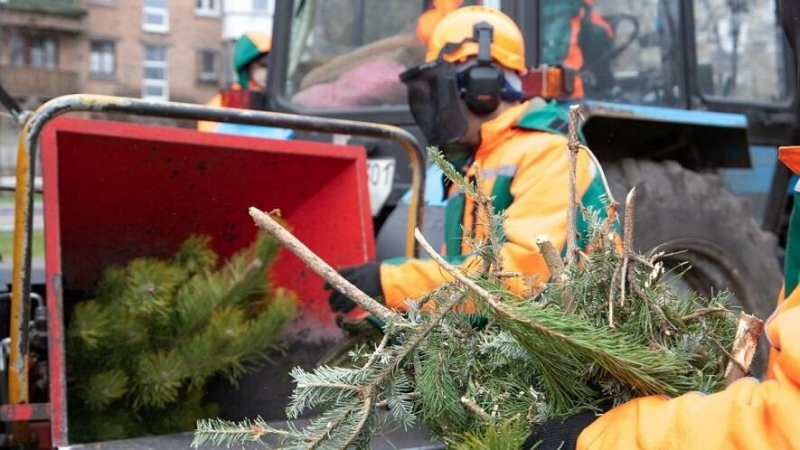
[[[456,68],[442,60],[400,74],[408,90],[411,115],[430,145],[442,147],[467,132]]]

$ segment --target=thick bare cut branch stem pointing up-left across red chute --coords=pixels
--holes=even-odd
[[[352,283],[347,281],[344,277],[333,269],[328,263],[322,260],[319,256],[314,254],[305,244],[300,242],[299,239],[294,237],[292,233],[287,231],[280,223],[275,221],[269,214],[259,210],[255,207],[250,207],[250,216],[255,221],[259,228],[271,234],[281,244],[283,244],[289,251],[297,255],[298,258],[303,260],[308,267],[314,272],[318,273],[322,278],[331,284],[339,292],[346,295],[348,298],[356,302],[365,310],[378,316],[384,322],[400,318],[400,315],[390,310],[389,308],[381,305],[367,294],[361,292]]]

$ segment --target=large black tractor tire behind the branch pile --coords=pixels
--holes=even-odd
[[[677,162],[626,159],[603,165],[624,223],[625,197],[636,187],[633,243],[647,254],[665,252],[667,269],[688,263],[682,282],[706,296],[728,290],[735,306],[766,320],[775,308],[782,274],[774,237],[763,232],[746,203],[716,174]],[[762,334],[750,373],[764,374],[769,344]]]

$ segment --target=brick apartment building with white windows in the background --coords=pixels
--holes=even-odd
[[[79,92],[205,103],[223,52],[222,0],[0,0],[0,84],[26,109]],[[16,140],[2,110],[0,171]]]

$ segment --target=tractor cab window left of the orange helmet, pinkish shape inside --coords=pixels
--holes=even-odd
[[[346,110],[406,103],[399,75],[425,58],[423,3],[297,1],[286,94],[297,106]]]

